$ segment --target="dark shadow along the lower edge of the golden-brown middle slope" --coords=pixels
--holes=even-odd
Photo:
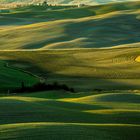
[[[131,84],[129,81],[133,80],[139,80],[139,79],[119,79],[117,78],[102,78],[98,76],[93,77],[86,77],[86,76],[70,76],[70,75],[64,75],[64,74],[56,74],[51,71],[47,71],[47,69],[43,69],[36,64],[33,64],[28,61],[18,61],[18,60],[6,60],[8,63],[10,63],[12,66],[18,63],[23,63],[27,67],[24,69],[26,71],[29,71],[30,73],[33,73],[40,78],[43,78],[46,80],[47,83],[53,83],[57,81],[60,84],[66,84],[72,88],[75,89],[75,91],[96,91],[98,90],[135,90],[140,89],[139,83]],[[121,77],[122,78],[122,77]],[[22,80],[22,79],[21,79]],[[126,80],[126,82],[125,82]],[[25,83],[26,84],[26,83]]]

